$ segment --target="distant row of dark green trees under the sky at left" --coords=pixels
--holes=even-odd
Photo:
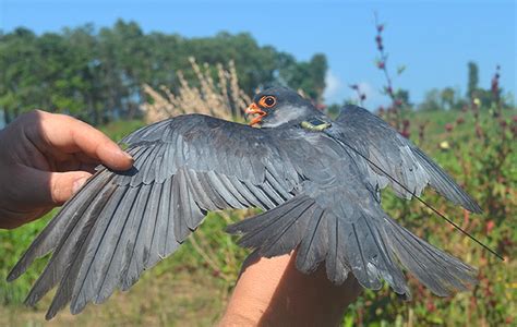
[[[7,122],[34,108],[68,112],[94,124],[131,118],[145,100],[144,83],[175,90],[179,70],[195,83],[189,57],[214,66],[233,60],[240,87],[249,95],[281,83],[321,100],[325,88],[324,55],[301,62],[258,46],[245,33],[185,38],[145,34],[136,23],[119,20],[98,31],[85,25],[43,35],[23,27],[0,32],[0,110]]]

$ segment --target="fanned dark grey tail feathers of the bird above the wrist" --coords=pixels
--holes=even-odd
[[[328,279],[336,284],[351,271],[365,288],[377,290],[384,279],[409,299],[402,268],[440,296],[477,283],[476,268],[421,240],[381,209],[375,217],[352,211],[353,219],[337,217],[302,195],[227,230],[242,234],[239,244],[265,257],[297,250],[297,267],[306,274],[325,262]]]

